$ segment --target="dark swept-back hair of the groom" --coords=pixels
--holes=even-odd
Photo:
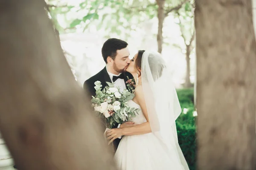
[[[107,58],[111,57],[113,60],[116,58],[116,51],[126,48],[128,45],[127,42],[123,40],[119,40],[116,38],[110,38],[106,42],[104,42],[102,46],[102,57],[106,63]]]

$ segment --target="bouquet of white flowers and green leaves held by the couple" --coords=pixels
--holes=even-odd
[[[100,81],[94,83],[96,96],[92,96],[91,102],[97,116],[105,119],[105,126],[109,129],[116,123],[131,121],[132,117],[138,115],[138,108],[130,108],[127,105],[128,100],[134,98],[134,94],[126,89],[120,92],[119,88],[114,87],[114,83],[107,83],[108,86],[103,90]]]

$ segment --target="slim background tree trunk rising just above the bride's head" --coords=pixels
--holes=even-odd
[[[158,45],[158,52],[162,53],[162,46],[163,46],[163,20],[165,18],[165,11],[164,11],[164,4],[165,0],[157,0],[157,17],[158,17],[158,32],[157,32],[157,45]]]

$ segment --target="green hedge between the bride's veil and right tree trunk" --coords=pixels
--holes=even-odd
[[[194,112],[194,90],[177,89],[177,95],[180,101],[182,111],[188,109],[187,113],[183,112],[176,120],[178,140],[180,148],[185,156],[190,170],[196,167],[196,117]]]

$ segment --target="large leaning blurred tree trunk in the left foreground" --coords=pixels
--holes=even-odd
[[[0,130],[19,170],[113,170],[43,0],[0,2]]]

